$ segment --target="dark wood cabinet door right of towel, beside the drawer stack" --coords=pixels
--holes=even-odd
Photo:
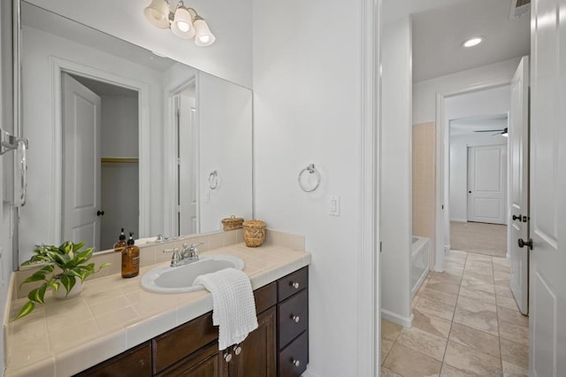
[[[275,377],[277,371],[275,307],[257,316],[258,327],[241,342],[230,377]],[[232,348],[233,349],[233,348]]]

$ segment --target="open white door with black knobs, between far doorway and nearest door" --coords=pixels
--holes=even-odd
[[[529,251],[519,248],[517,240],[529,238],[529,57],[521,59],[511,81],[509,185],[509,281],[516,304],[527,314]]]

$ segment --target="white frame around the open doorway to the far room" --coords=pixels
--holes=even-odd
[[[436,171],[438,173],[436,174],[435,189],[437,206],[434,213],[436,227],[434,271],[444,271],[444,256],[450,251],[450,124],[445,121],[446,98],[509,85],[511,79],[512,76],[497,77],[436,93],[435,124],[436,140],[438,142],[436,142],[435,158]]]

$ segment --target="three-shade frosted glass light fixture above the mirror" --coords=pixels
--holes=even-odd
[[[216,41],[206,21],[195,9],[185,6],[182,0],[177,4],[175,12],[171,12],[167,0],[151,0],[143,14],[154,27],[170,28],[172,34],[183,39],[195,38],[197,46],[210,46]]]

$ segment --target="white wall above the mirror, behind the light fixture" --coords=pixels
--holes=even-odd
[[[204,48],[150,25],[143,16],[150,0],[31,0],[30,3],[251,88],[252,0],[188,4],[206,19],[217,37],[213,45]]]

